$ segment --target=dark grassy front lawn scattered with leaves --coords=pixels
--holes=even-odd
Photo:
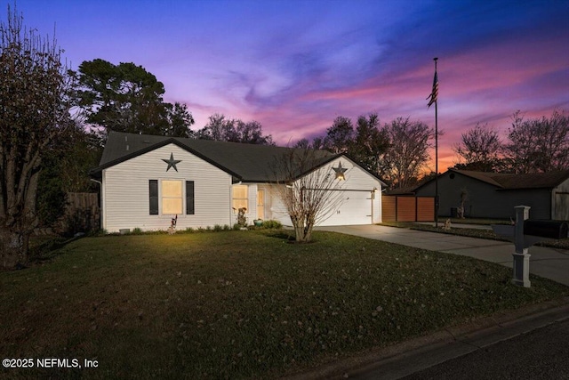
[[[2,368],[37,378],[274,378],[495,311],[569,295],[462,256],[326,232],[85,238],[0,273],[4,358],[98,368]]]

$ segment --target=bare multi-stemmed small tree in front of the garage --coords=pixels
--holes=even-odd
[[[318,222],[324,222],[342,203],[341,183],[345,168],[333,169],[322,150],[288,150],[276,158],[272,190],[293,222],[297,242],[307,243]]]

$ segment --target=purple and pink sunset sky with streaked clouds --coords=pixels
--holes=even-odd
[[[133,62],[164,83],[164,101],[188,105],[195,129],[219,112],[259,121],[279,145],[322,135],[338,116],[434,126],[426,101],[434,57],[441,172],[477,122],[505,137],[517,109],[569,111],[569,0],[18,0],[17,8],[42,35],[55,28],[72,68]]]

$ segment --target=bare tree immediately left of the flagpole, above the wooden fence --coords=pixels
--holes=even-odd
[[[389,139],[389,149],[381,160],[382,177],[395,188],[412,185],[429,160],[435,132],[421,121],[397,117],[383,127],[383,133]]]

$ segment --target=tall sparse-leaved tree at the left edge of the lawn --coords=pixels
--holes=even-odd
[[[22,27],[8,7],[0,23],[0,258],[4,268],[28,261],[37,225],[42,158],[69,125],[68,72],[55,41]]]

